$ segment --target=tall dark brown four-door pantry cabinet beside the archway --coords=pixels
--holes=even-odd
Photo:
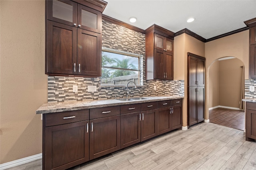
[[[188,53],[188,126],[204,121],[205,58]]]

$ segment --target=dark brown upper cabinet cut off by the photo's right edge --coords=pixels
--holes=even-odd
[[[256,79],[256,18],[244,23],[249,29],[249,78]]]

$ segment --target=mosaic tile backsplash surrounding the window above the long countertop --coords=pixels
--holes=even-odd
[[[184,80],[145,80],[145,35],[120,25],[102,20],[102,47],[142,55],[141,78],[143,86],[130,86],[129,97],[139,96],[184,96]],[[143,76],[142,76],[143,74]],[[48,102],[70,100],[97,100],[125,98],[125,86],[101,86],[101,78],[72,76],[48,76]],[[73,92],[73,86],[78,92]],[[96,86],[96,92],[88,92],[88,86]],[[156,90],[154,90],[156,86]]]

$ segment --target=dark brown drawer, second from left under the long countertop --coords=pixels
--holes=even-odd
[[[100,107],[90,109],[90,119],[120,115],[120,106]]]

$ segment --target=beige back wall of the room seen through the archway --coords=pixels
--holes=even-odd
[[[240,107],[243,65],[239,59],[220,61],[220,106]]]

